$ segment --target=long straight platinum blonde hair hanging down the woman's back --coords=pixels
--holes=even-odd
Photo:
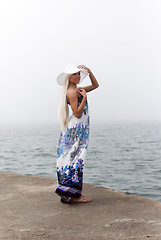
[[[61,129],[63,132],[65,131],[65,128],[69,121],[69,107],[67,103],[67,90],[69,85],[69,77],[70,77],[69,74],[65,77],[65,81],[62,89],[62,97],[60,100],[60,105],[58,110],[58,118],[60,120]]]

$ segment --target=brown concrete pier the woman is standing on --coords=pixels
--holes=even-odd
[[[91,203],[63,204],[56,186],[0,173],[0,240],[161,240],[161,203],[84,184]]]

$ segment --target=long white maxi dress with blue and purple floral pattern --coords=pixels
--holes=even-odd
[[[78,106],[83,97],[78,98]],[[71,197],[82,195],[83,168],[89,140],[88,103],[79,118],[72,114],[67,128],[60,134],[57,147],[57,176],[59,186],[56,193],[63,202],[70,202]]]

